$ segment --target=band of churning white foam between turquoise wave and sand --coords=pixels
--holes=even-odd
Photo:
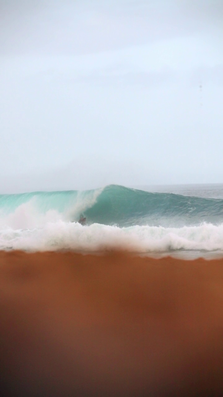
[[[48,216],[57,218],[59,215],[54,213]],[[33,229],[2,228],[0,249],[25,251],[69,249],[86,252],[126,249],[140,253],[177,250],[216,251],[223,250],[223,224],[218,226],[202,224],[181,228],[152,226],[119,228],[100,224],[82,226],[59,219]]]

